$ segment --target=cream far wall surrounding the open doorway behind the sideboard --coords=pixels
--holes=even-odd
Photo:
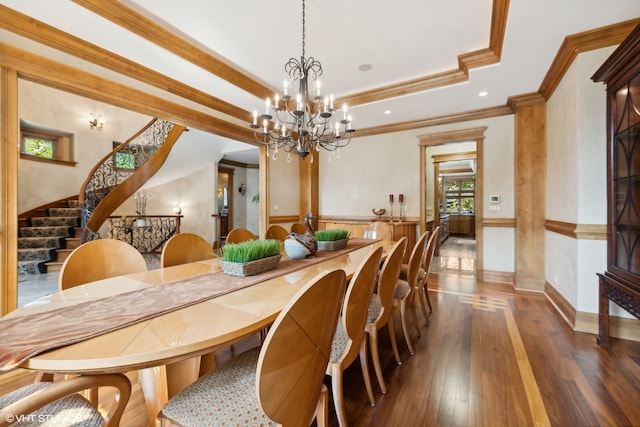
[[[389,209],[389,194],[404,194],[406,216],[420,216],[419,135],[486,126],[484,142],[485,218],[513,218],[513,116],[472,120],[411,131],[355,138],[340,157],[320,159],[320,215],[373,217],[372,208]],[[430,154],[430,153],[429,153]],[[500,211],[489,211],[489,195],[502,197]],[[397,207],[396,207],[397,209]],[[484,269],[514,272],[514,230],[484,229]]]

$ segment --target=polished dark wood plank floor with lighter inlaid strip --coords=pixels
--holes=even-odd
[[[359,363],[345,372],[351,426],[640,426],[640,343],[614,339],[610,351],[601,350],[595,336],[573,332],[544,295],[454,269],[432,274],[429,289],[434,310],[427,325],[418,309],[414,356],[400,327],[402,365],[393,361],[388,335],[380,337],[388,391],[380,394],[372,373],[374,407]],[[134,395],[122,425],[146,426],[136,374],[129,375]],[[16,386],[15,377],[29,381],[2,376],[0,392]],[[330,425],[337,426],[333,410]]]

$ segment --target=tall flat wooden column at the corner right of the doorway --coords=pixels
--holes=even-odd
[[[515,283],[544,291],[546,101],[539,93],[509,98],[515,112]]]

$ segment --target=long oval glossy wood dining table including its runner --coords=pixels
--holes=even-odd
[[[201,356],[268,328],[296,292],[317,275],[342,269],[350,278],[371,250],[383,246],[386,251],[391,244],[349,239],[342,250],[319,251],[303,260],[283,253],[276,268],[248,278],[226,275],[219,265],[221,258],[212,258],[59,291],[0,319],[0,356],[12,351],[12,339],[21,340],[5,332],[4,325],[21,328],[20,334],[26,337],[21,345],[46,342],[50,333],[43,331],[53,330],[52,335],[58,336],[92,322],[100,323],[99,331],[58,338],[58,343],[47,344],[44,350],[21,348],[24,354],[0,364],[0,374],[16,367],[74,375],[138,370],[153,426],[168,399],[197,379]],[[216,286],[222,290],[195,296]],[[160,311],[145,312],[157,306]],[[139,318],[138,311],[142,312]]]

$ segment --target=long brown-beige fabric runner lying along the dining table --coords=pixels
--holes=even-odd
[[[319,251],[293,260],[283,256],[264,273],[227,276],[222,271],[179,279],[51,311],[0,319],[0,372],[47,350],[84,341],[248,286],[282,276],[370,245],[372,240],[349,239],[338,251]]]

